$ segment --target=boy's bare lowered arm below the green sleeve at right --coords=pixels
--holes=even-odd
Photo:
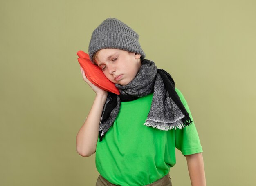
[[[202,153],[185,155],[192,186],[206,186]]]

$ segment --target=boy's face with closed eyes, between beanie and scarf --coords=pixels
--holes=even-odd
[[[111,82],[124,86],[137,75],[141,66],[140,56],[120,49],[106,48],[98,52],[95,62]],[[121,76],[118,78],[119,75]]]

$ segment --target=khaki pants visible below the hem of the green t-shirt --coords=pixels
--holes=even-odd
[[[118,186],[118,185],[108,182],[108,180],[106,180],[101,175],[99,175],[97,182],[96,182],[96,186]],[[172,186],[172,182],[171,182],[169,173],[167,175],[165,175],[164,177],[162,177],[161,179],[158,179],[157,181],[155,181],[151,184],[148,184],[146,186]]]

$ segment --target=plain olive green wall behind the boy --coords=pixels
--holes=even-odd
[[[185,96],[203,147],[208,186],[254,186],[256,1],[23,0],[0,2],[0,185],[93,186],[95,154],[76,134],[95,93],[76,52],[118,18],[146,58]],[[190,184],[177,150],[174,186]]]

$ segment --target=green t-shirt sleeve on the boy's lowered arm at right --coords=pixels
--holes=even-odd
[[[180,90],[175,88],[175,91],[179,95],[182,104],[186,108],[186,111],[189,113],[189,116],[193,121],[193,123],[191,123],[189,126],[186,126],[185,128],[176,128],[175,146],[182,152],[183,155],[190,155],[203,152],[198,132],[195,127],[195,121],[193,120],[193,117],[189,110],[189,106]]]

